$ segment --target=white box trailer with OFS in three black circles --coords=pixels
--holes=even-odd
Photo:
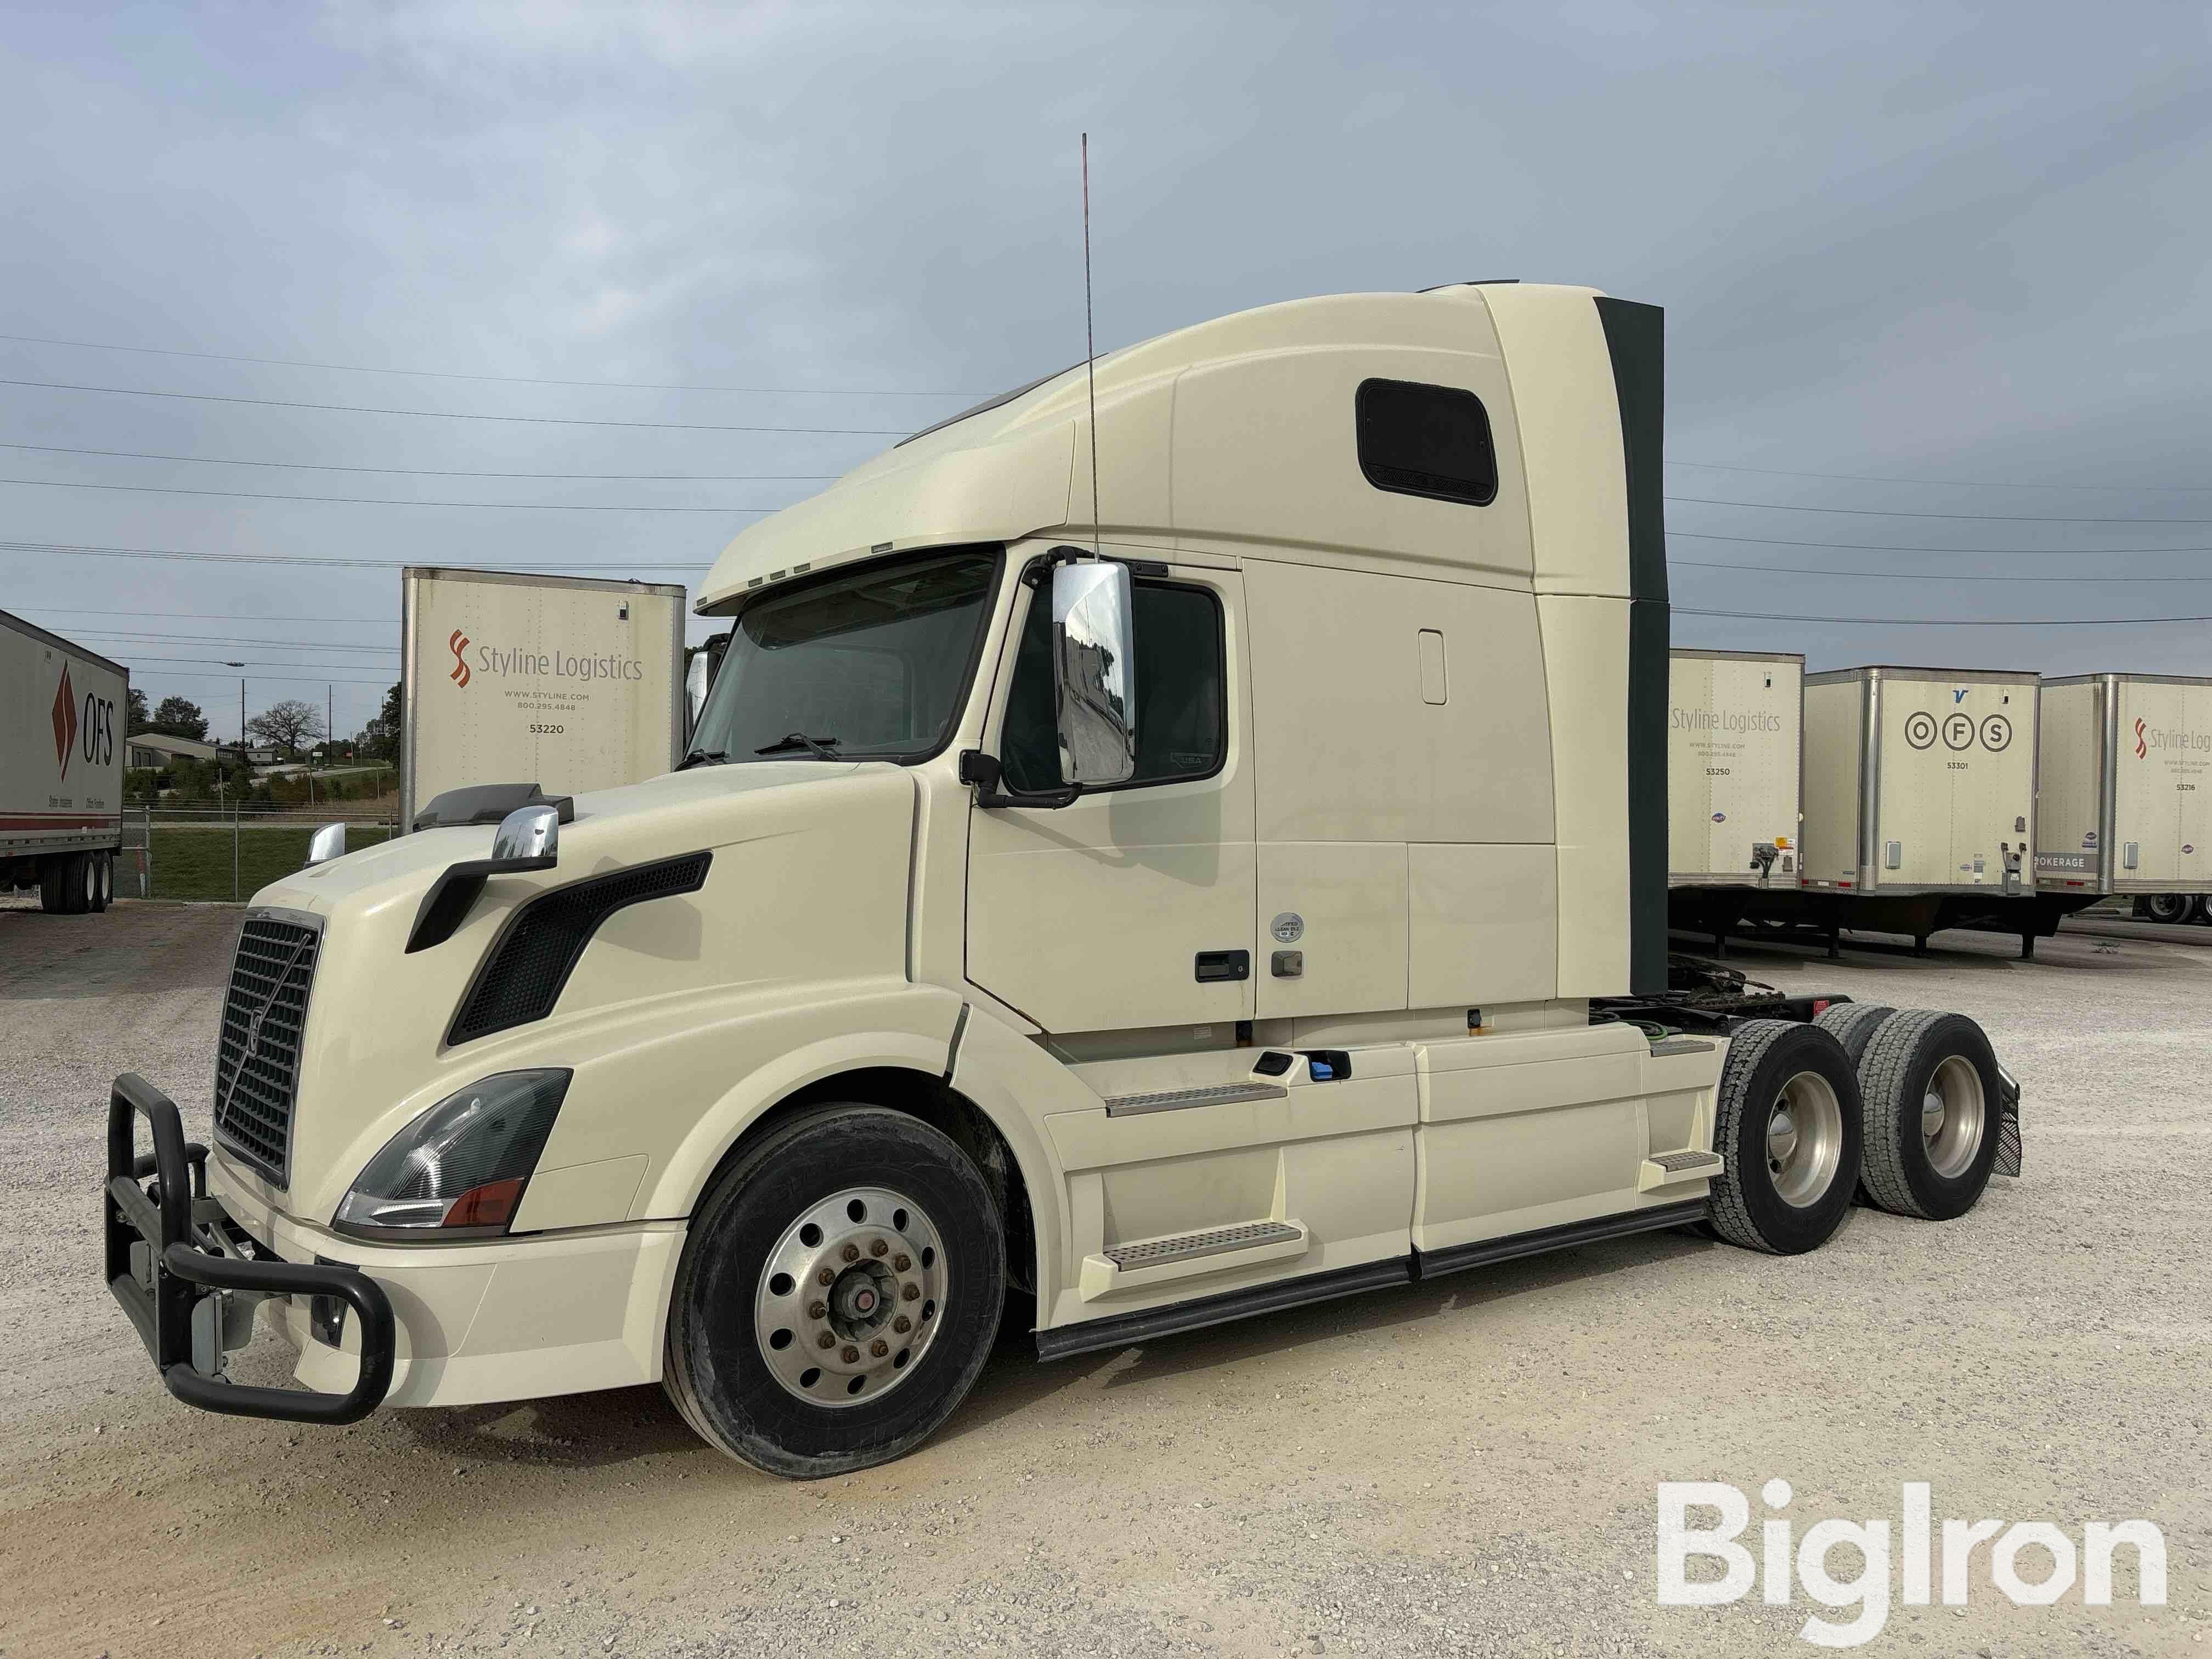
[[[2035,690],[1986,668],[1807,675],[1803,885],[2033,891]]]

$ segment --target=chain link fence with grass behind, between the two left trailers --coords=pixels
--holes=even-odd
[[[124,854],[115,891],[124,898],[246,900],[307,863],[307,841],[345,823],[345,845],[367,847],[398,830],[396,801],[332,801],[319,807],[137,803],[124,807]]]

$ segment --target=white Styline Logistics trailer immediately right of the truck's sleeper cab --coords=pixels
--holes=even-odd
[[[1670,653],[1670,887],[1796,887],[1803,681],[1794,653]]]

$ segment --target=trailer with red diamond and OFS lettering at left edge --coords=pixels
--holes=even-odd
[[[0,889],[108,907],[124,834],[131,670],[0,611]]]

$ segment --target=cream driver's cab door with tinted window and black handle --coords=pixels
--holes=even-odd
[[[967,973],[1053,1033],[1252,1018],[1252,761],[1234,571],[1135,580],[1137,770],[1066,807],[971,807]],[[1051,597],[1026,588],[984,745],[1060,787]],[[1186,1033],[1190,1035],[1190,1033]]]

